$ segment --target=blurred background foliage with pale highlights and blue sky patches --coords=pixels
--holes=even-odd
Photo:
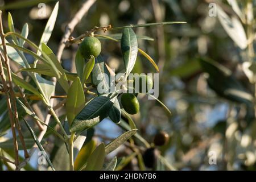
[[[17,2],[23,3],[11,6]],[[7,12],[10,11],[19,30],[27,22],[30,30],[28,39],[39,43],[47,17],[39,19],[36,16],[38,3],[46,2],[47,14],[50,14],[56,1],[30,1],[35,2],[31,5],[24,2],[1,0],[3,19],[7,19]],[[79,10],[81,3],[60,1],[56,26],[48,43],[54,52],[66,24]],[[226,1],[223,3],[228,5]],[[148,101],[147,97],[139,95],[141,111],[133,116],[138,132],[148,142],[153,142],[158,131],[166,131],[170,140],[158,149],[177,169],[256,169],[254,104],[243,94],[234,96],[226,93],[227,89],[234,88],[254,95],[254,86],[241,68],[242,62],[247,59],[245,51],[241,51],[229,38],[218,18],[210,17],[208,13],[209,3],[200,0],[98,0],[72,36],[77,37],[94,26],[108,24],[117,27],[152,22],[187,22],[134,28],[138,35],[154,38],[154,42],[139,40],[139,46],[158,64],[159,99],[172,111],[172,116],[168,117],[158,102]],[[7,31],[7,22],[4,23]],[[65,49],[62,55],[63,67],[72,72],[75,72],[76,50],[77,45],[73,45]],[[111,68],[116,71],[123,69],[119,44],[102,42],[102,55]],[[155,70],[139,55],[134,72],[149,73]],[[57,94],[61,94],[61,91],[58,93],[57,90]],[[108,121],[96,127],[98,136],[112,138],[119,134],[119,130],[113,130],[113,124]],[[54,148],[52,140],[46,140],[44,146],[51,151]],[[131,154],[131,151],[120,147],[117,153],[123,156]],[[209,164],[211,156],[216,156],[217,165]],[[136,163],[136,160],[131,160],[125,169],[138,169]]]

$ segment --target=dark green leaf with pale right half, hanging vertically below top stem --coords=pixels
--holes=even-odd
[[[133,70],[138,54],[138,42],[133,29],[125,28],[123,30],[121,49],[123,53],[123,61],[125,63],[127,77],[129,73]]]

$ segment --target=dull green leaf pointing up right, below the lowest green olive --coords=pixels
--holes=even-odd
[[[127,139],[131,138],[137,129],[127,131],[126,133],[120,135],[119,137],[115,138],[112,142],[106,145],[105,152],[108,155],[110,152],[114,151],[116,148],[121,146],[121,144],[125,143]]]

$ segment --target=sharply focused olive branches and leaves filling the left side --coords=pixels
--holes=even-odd
[[[93,2],[90,6],[92,5]],[[101,76],[104,76],[104,73],[110,75],[112,69],[101,55],[96,55],[97,57],[92,55],[89,56],[90,59],[85,59],[82,51],[88,51],[78,48],[75,57],[76,72],[68,72],[61,65],[61,54],[65,46],[80,44],[82,40],[94,36],[100,42],[114,41],[121,45],[123,60],[120,61],[125,65],[123,78],[127,78],[127,75],[133,71],[138,52],[158,71],[154,60],[139,48],[137,42],[137,39],[143,41],[152,39],[136,35],[134,28],[184,22],[94,27],[73,39],[68,39],[72,33],[68,27],[68,31],[63,35],[65,41],[60,43],[59,52],[55,55],[47,43],[54,31],[58,11],[60,11],[59,3],[56,3],[39,44],[27,39],[29,31],[27,24],[24,24],[21,31],[17,31],[15,20],[10,13],[7,19],[9,30],[1,31],[1,168],[115,170],[122,169],[131,159],[137,158],[139,168],[145,169],[142,152],[151,148],[151,144],[139,134],[130,114],[121,109],[122,105],[118,98],[122,93],[117,92],[118,90],[111,94],[97,92],[98,84],[105,81]],[[81,10],[75,16],[81,19],[81,15],[84,14],[85,12],[82,13]],[[75,28],[77,23],[79,22],[71,21],[69,26]],[[96,34],[100,31],[108,34]],[[119,32],[112,34],[112,31]],[[32,63],[28,61],[28,55],[33,58]],[[15,64],[18,70],[10,67],[12,64]],[[121,80],[115,80],[115,82],[119,81]],[[110,82],[104,84],[110,87]],[[57,94],[56,85],[60,86],[64,95]],[[129,105],[127,102],[131,102],[133,106],[133,101],[129,98],[126,100],[126,105]],[[137,100],[136,97],[135,99]],[[56,102],[53,102],[54,100]],[[138,103],[137,100],[135,104]],[[160,104],[163,105],[162,102]],[[44,111],[36,109],[39,105]],[[164,109],[170,113],[166,106]],[[138,112],[138,108],[135,110]],[[110,140],[108,144],[99,144],[93,138],[94,126],[105,118],[109,118],[121,127],[123,133]],[[52,150],[47,149],[48,143],[54,145]],[[123,158],[106,157],[121,145],[131,148],[133,153]],[[33,168],[30,159],[36,152],[39,154],[38,168]],[[162,168],[174,169],[162,155],[156,154],[156,160]]]

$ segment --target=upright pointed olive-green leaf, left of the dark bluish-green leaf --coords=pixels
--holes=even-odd
[[[73,119],[85,106],[84,89],[79,77],[72,83],[68,90],[67,102],[66,102],[66,114],[69,125],[72,124]]]

